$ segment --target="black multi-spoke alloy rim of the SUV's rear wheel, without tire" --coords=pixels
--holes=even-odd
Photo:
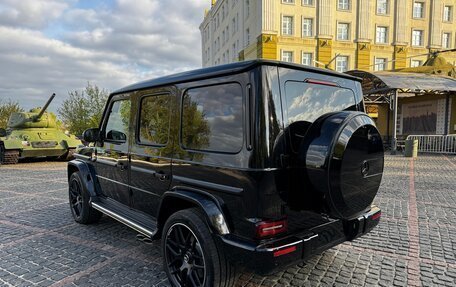
[[[206,266],[201,243],[183,223],[175,223],[165,238],[166,264],[174,285],[205,286]]]

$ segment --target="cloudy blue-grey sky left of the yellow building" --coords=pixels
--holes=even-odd
[[[87,83],[107,91],[201,67],[210,0],[0,0],[0,102],[56,112]]]

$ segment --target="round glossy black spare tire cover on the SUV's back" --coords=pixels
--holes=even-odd
[[[352,219],[370,208],[383,174],[383,143],[365,113],[318,118],[300,145],[305,182],[319,193],[330,216]]]

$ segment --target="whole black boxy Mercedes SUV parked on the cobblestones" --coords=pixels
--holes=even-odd
[[[161,238],[174,286],[231,286],[375,227],[383,145],[359,79],[255,60],[112,93],[68,163],[79,223]]]

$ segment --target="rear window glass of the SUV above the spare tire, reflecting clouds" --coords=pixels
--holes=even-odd
[[[287,81],[285,95],[288,124],[297,121],[312,123],[326,113],[356,110],[355,94],[341,87]]]

